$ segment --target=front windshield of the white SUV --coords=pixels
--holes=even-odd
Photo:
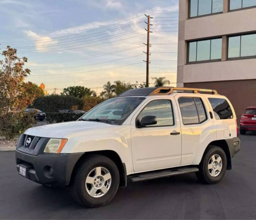
[[[80,120],[95,120],[121,125],[144,99],[142,97],[108,99],[89,111]]]

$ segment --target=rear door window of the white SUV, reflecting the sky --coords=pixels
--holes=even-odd
[[[200,124],[207,120],[205,107],[200,98],[181,97],[178,102],[184,125]]]

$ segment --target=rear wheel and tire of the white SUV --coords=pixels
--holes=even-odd
[[[219,181],[222,180],[226,169],[227,156],[224,150],[217,146],[209,146],[207,152],[205,152],[204,157],[199,164],[199,172],[195,174],[197,175],[198,179],[201,180],[203,183],[215,184],[219,183]]]

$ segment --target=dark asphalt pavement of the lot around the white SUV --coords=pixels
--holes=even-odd
[[[256,134],[239,137],[233,169],[219,184],[201,184],[193,173],[129,183],[95,209],[79,206],[66,187],[19,176],[15,153],[0,152],[0,219],[256,219]]]

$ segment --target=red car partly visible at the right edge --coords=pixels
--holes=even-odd
[[[256,132],[256,107],[248,107],[241,116],[240,134],[245,135],[246,131]]]

